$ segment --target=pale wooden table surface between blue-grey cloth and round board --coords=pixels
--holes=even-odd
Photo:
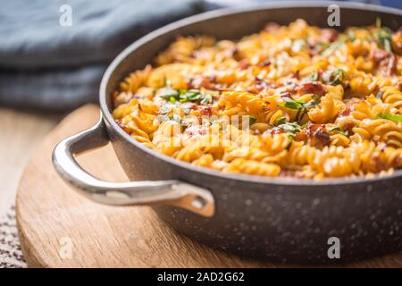
[[[63,116],[0,107],[0,217],[15,198],[30,154]]]

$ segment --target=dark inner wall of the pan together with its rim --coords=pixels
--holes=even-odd
[[[231,180],[285,185],[329,185],[359,183],[362,181],[380,181],[384,180],[384,178],[389,179],[401,176],[402,170],[397,170],[387,177],[374,176],[370,179],[364,177],[339,178],[325,179],[322,181],[227,174],[204,167],[197,167],[176,160],[170,156],[159,154],[138,143],[135,139],[131,139],[130,136],[121,130],[113,120],[111,114],[111,111],[113,110],[112,95],[113,91],[118,89],[120,81],[130,72],[143,69],[148,63],[153,63],[155,55],[168,46],[177,35],[187,36],[205,34],[214,36],[217,39],[238,39],[244,35],[252,34],[259,29],[262,29],[264,24],[269,21],[275,21],[284,25],[291,21],[295,21],[298,18],[304,19],[314,26],[329,28],[327,19],[330,13],[327,9],[330,4],[331,3],[329,2],[314,4],[284,2],[281,4],[264,4],[247,9],[222,9],[188,17],[155,30],[147,36],[138,39],[138,41],[123,50],[105,71],[99,94],[99,101],[104,120],[108,122],[109,126],[112,126],[113,130],[116,130],[122,138],[130,141],[132,145],[143,149],[152,156],[156,156],[161,160],[195,172],[204,172],[209,175],[224,177]],[[342,30],[350,26],[371,25],[378,17],[381,18],[382,24],[390,29],[397,30],[402,26],[402,12],[397,9],[366,4],[338,3],[338,5],[340,7],[340,26],[330,28]]]

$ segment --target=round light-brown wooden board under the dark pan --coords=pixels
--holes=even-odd
[[[98,117],[96,105],[68,115],[39,145],[22,174],[16,214],[21,248],[30,267],[284,266],[249,261],[198,244],[164,225],[147,206],[101,206],[75,193],[54,171],[52,150]],[[127,181],[110,145],[80,156],[79,162],[104,180]],[[341,266],[402,267],[402,255]]]

